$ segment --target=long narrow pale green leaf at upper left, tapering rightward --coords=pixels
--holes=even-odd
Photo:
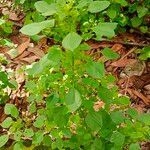
[[[32,36],[40,33],[43,29],[54,26],[54,19],[46,20],[39,23],[27,24],[21,28],[21,33]]]

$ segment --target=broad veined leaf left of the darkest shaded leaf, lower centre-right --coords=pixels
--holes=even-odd
[[[99,131],[102,127],[101,112],[89,112],[85,118],[86,124],[94,131]]]

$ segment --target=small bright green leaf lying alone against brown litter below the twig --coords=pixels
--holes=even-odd
[[[104,48],[102,54],[108,59],[118,59],[119,54],[114,52],[111,48]]]

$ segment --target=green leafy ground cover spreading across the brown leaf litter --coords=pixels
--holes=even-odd
[[[130,98],[120,94],[116,77],[105,68],[107,61],[121,55],[105,47],[100,52],[104,59],[94,60],[87,54],[92,47],[86,42],[110,41],[128,28],[148,34],[144,19],[149,2],[17,0],[14,4],[26,12],[20,32],[35,43],[45,36],[54,44],[38,62],[18,71],[25,73],[26,110],[9,102],[11,93],[6,89],[15,91],[17,85],[13,73],[3,69],[9,62],[1,57],[0,104],[5,118],[0,124],[0,147],[138,150],[140,142],[149,141],[149,113],[131,107]],[[0,21],[1,43],[15,49],[8,39],[13,30],[4,33],[6,18]],[[13,22],[8,23],[8,28],[12,26]],[[149,47],[137,49],[136,54],[147,61]]]

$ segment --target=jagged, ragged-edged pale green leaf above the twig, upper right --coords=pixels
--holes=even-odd
[[[93,31],[96,33],[97,39],[101,40],[103,36],[112,38],[115,36],[114,30],[117,27],[117,23],[99,23],[96,27],[93,28]]]

